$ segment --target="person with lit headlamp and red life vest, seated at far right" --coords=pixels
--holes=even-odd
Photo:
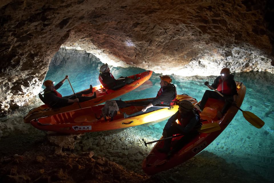
[[[207,86],[208,84],[209,84],[209,82],[206,81],[205,85]],[[207,101],[208,98],[225,101],[223,109],[221,111],[217,112],[217,117],[219,119],[221,119],[223,117],[223,115],[226,113],[227,109],[231,105],[232,106],[237,105],[236,104],[236,99],[237,99],[238,93],[237,93],[237,90],[236,90],[236,83],[235,83],[235,80],[234,80],[234,76],[232,74],[230,74],[229,68],[223,68],[220,72],[220,76],[218,76],[214,80],[214,82],[213,82],[213,84],[211,84],[211,86],[213,88],[217,89],[217,91],[219,91],[221,94],[223,94],[224,97],[222,97],[221,95],[219,95],[215,91],[206,90],[205,93],[204,93],[204,96],[202,97],[200,105],[197,104],[197,105],[195,105],[195,107],[199,111],[202,112],[205,105],[206,105],[206,101]],[[211,89],[211,88],[209,88],[209,89]]]

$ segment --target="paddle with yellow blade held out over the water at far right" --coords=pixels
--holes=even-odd
[[[217,92],[219,95],[221,95],[223,97],[223,95],[217,91],[215,88],[213,88],[212,86],[210,86],[209,84],[207,84],[207,86],[211,89],[213,89],[215,92]],[[255,126],[256,128],[261,128],[263,127],[263,125],[265,124],[265,122],[263,122],[263,120],[261,120],[258,116],[256,116],[255,114],[249,112],[249,111],[243,111],[241,108],[239,108],[237,105],[235,106],[237,107],[240,111],[242,111],[243,113],[243,117],[246,119],[246,121],[248,121],[251,125]]]

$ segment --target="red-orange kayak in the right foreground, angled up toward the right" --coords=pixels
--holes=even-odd
[[[236,82],[236,85],[238,92],[236,102],[237,106],[240,107],[245,97],[245,86],[240,82]],[[208,99],[204,110],[200,113],[201,119],[206,120],[202,122],[203,125],[208,123],[217,123],[221,128],[220,130],[211,133],[198,133],[196,136],[194,135],[192,140],[185,142],[183,147],[178,152],[172,154],[169,158],[167,158],[165,153],[160,153],[157,150],[158,148],[163,147],[164,141],[157,142],[142,162],[142,169],[144,172],[148,175],[154,175],[158,172],[168,170],[186,162],[205,149],[227,127],[238,111],[236,107],[230,107],[227,113],[221,119],[218,119],[216,116],[217,111],[221,111],[223,105],[223,101]],[[172,138],[172,147],[174,147],[176,142],[182,137],[184,136]]]

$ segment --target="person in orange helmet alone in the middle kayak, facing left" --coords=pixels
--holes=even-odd
[[[170,76],[160,76],[161,88],[158,91],[156,97],[147,101],[127,103],[128,105],[144,105],[145,107],[142,109],[142,111],[133,113],[131,115],[127,115],[126,113],[124,113],[124,117],[126,118],[130,116],[136,116],[143,113],[148,113],[150,111],[162,109],[160,108],[162,106],[166,107],[174,105],[174,103],[177,101],[177,92],[176,87],[171,82],[172,79],[170,78]]]

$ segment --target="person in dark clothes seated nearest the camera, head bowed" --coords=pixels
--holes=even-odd
[[[158,149],[161,153],[166,153],[171,156],[180,150],[186,143],[198,135],[198,129],[202,126],[198,109],[188,100],[179,102],[179,110],[172,115],[163,129],[163,138],[172,137],[174,134],[184,134],[184,136],[171,148],[172,139],[164,141],[163,148]],[[176,120],[178,119],[178,123]]]

